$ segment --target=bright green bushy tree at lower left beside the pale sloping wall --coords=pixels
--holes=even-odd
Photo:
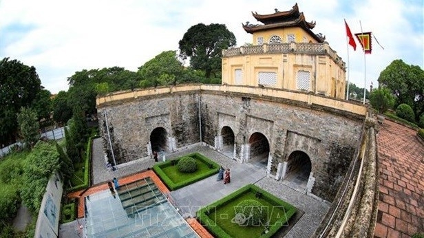
[[[32,212],[38,213],[49,178],[59,171],[59,153],[54,144],[39,141],[28,155],[23,167],[21,198]]]

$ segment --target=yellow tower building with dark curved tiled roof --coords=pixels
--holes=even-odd
[[[253,17],[244,23],[253,45],[222,52],[222,84],[273,87],[345,98],[346,67],[336,52],[315,34],[297,3],[292,10]]]

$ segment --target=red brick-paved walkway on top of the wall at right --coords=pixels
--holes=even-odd
[[[416,131],[385,120],[377,134],[379,211],[375,237],[424,232],[424,145]]]

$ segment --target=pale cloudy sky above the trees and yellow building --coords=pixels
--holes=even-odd
[[[67,78],[83,69],[138,67],[167,50],[198,23],[225,24],[237,47],[252,43],[242,23],[252,16],[290,10],[295,3],[312,32],[326,36],[348,66],[350,83],[369,89],[392,61],[424,65],[423,0],[0,0],[0,59],[34,66],[41,85],[52,94],[67,91]],[[348,47],[346,19],[352,33],[372,32],[372,54]],[[362,27],[362,30],[361,30]],[[356,40],[356,39],[355,39]],[[365,84],[366,81],[366,84]]]

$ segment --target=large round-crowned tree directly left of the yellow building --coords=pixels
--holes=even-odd
[[[233,32],[226,25],[198,23],[191,26],[179,42],[180,57],[190,58],[193,69],[202,69],[206,78],[221,72],[222,50],[236,44]]]

